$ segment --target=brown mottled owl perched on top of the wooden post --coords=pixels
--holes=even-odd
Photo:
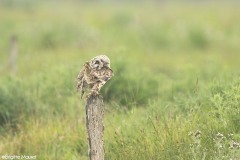
[[[102,86],[113,76],[110,59],[106,55],[99,55],[87,61],[77,76],[77,90],[81,92],[81,99],[89,88],[90,95],[98,95]]]

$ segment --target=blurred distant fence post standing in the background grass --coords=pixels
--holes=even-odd
[[[13,73],[16,73],[17,71],[17,56],[18,56],[17,36],[13,35],[10,38],[10,52],[9,52],[9,67]]]

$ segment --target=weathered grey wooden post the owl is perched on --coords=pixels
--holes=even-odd
[[[103,98],[100,95],[90,95],[86,103],[88,156],[90,160],[104,160],[103,116]]]

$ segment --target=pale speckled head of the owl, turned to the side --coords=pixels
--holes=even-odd
[[[97,70],[100,70],[102,67],[110,68],[110,59],[106,55],[96,56],[90,61],[90,66]]]

